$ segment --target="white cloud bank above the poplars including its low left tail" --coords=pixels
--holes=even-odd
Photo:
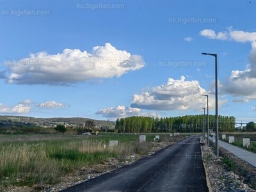
[[[95,114],[102,115],[115,120],[127,116],[154,116],[161,117],[155,111],[163,110],[187,110],[200,111],[200,107],[207,108],[206,98],[202,94],[209,96],[209,109],[215,109],[215,98],[213,94],[207,93],[198,81],[185,81],[185,77],[180,79],[169,78],[167,83],[155,86],[150,91],[141,94],[134,94],[129,107],[117,106],[115,108],[104,108]],[[219,108],[227,100],[218,102]],[[150,113],[143,113],[142,109],[152,110]]]

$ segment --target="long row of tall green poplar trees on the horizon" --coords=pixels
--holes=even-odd
[[[235,131],[234,116],[219,115],[219,131]],[[154,118],[148,116],[130,116],[117,118],[115,129],[118,132],[202,132],[207,115],[186,115],[175,117]],[[215,130],[215,115],[209,115],[209,129]]]

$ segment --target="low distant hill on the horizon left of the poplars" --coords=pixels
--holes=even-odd
[[[94,120],[90,118],[83,117],[54,117],[54,118],[36,118],[31,116],[12,116],[12,115],[0,115],[0,127],[8,125],[8,127],[16,124],[22,124],[24,126],[47,126],[56,124],[68,124],[83,126],[86,120],[93,120],[97,127],[109,127],[113,129],[115,127],[115,122],[110,122],[106,120]]]

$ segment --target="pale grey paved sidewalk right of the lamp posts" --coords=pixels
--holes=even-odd
[[[212,140],[212,137],[209,137],[209,139]],[[215,143],[214,143],[214,145],[215,145]],[[249,152],[248,150],[244,150],[243,148],[236,147],[234,145],[225,143],[220,140],[219,140],[219,146],[222,148],[225,148],[230,153],[234,154],[235,156],[239,157],[240,159],[243,159],[247,163],[256,167],[256,154],[253,154],[252,152]]]

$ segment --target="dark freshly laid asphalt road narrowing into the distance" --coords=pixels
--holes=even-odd
[[[200,138],[190,136],[152,156],[63,191],[208,191]]]

